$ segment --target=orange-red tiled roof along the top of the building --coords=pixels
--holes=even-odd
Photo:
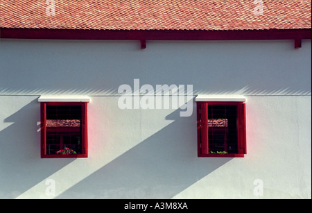
[[[49,0],[50,2],[53,0]],[[311,28],[311,0],[0,0],[0,28],[257,30]]]

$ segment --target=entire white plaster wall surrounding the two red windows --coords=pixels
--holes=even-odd
[[[1,40],[0,74],[0,198],[311,198],[311,41]],[[135,78],[245,95],[248,154],[198,158],[195,102],[121,110]],[[40,158],[41,94],[91,96],[87,159]]]

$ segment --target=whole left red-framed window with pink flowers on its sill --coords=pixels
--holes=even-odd
[[[87,102],[42,100],[41,157],[87,157]]]

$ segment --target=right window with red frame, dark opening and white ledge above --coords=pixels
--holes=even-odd
[[[196,97],[198,157],[244,157],[245,99]]]

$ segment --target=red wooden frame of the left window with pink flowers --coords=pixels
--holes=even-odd
[[[81,145],[82,153],[70,154],[70,155],[58,155],[58,154],[47,154],[46,153],[46,133],[49,131],[49,127],[46,126],[46,106],[47,105],[80,105],[81,106],[81,123],[80,123],[80,133],[81,133]],[[40,103],[40,120],[41,120],[41,157],[42,158],[78,158],[78,157],[88,157],[88,146],[87,146],[87,102],[41,102]],[[53,127],[55,131],[62,132],[69,130],[76,131],[73,127]],[[65,134],[64,134],[65,135]]]

